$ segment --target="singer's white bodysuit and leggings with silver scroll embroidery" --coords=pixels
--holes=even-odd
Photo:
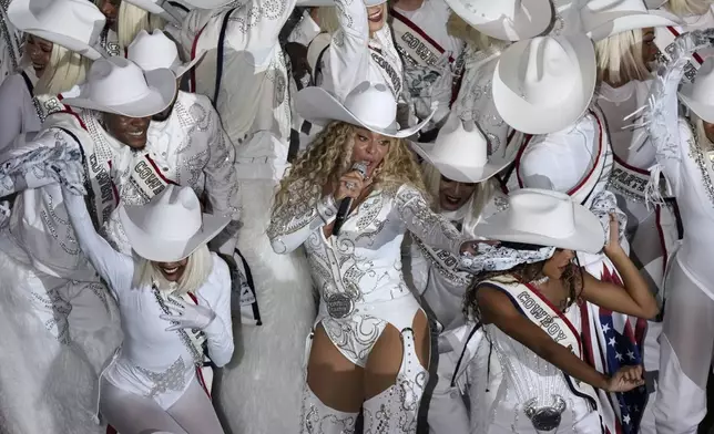
[[[315,326],[322,324],[355,365],[366,365],[387,324],[400,332],[404,355],[397,382],[363,404],[365,432],[379,426],[389,433],[412,433],[429,375],[415,351],[411,327],[421,308],[401,276],[401,241],[410,230],[426,244],[458,255],[465,238],[429,208],[419,190],[402,185],[394,193],[373,190],[345,220],[340,235],[326,239],[323,227],[335,219],[337,205],[332,196],[309,205],[304,187],[290,186],[290,202],[273,214],[268,229],[273,248],[287,254],[305,246],[320,288]],[[304,433],[354,430],[356,414],[329,409],[307,384],[304,405]]]

